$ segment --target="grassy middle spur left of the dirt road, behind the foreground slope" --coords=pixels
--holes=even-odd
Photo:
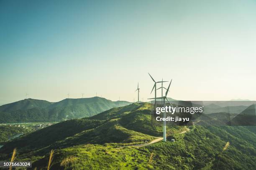
[[[145,105],[145,107],[148,106]],[[119,109],[124,111],[125,107],[134,106],[128,105],[119,107]],[[135,110],[135,112],[141,115],[141,110]],[[134,112],[132,113],[134,114]],[[57,123],[6,144],[0,152],[9,154],[13,147],[17,147],[20,153],[44,155],[50,148],[64,148],[89,143],[142,143],[145,140],[154,139],[150,135],[140,133],[140,127],[137,131],[123,127],[119,123],[120,119],[116,117],[108,120],[80,119]],[[0,158],[5,158],[5,154]]]

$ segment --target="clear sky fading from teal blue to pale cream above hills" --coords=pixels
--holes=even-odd
[[[0,0],[0,105],[141,100],[173,79],[180,100],[256,100],[256,0]],[[166,84],[167,86],[167,84]],[[159,94],[160,95],[160,91]]]

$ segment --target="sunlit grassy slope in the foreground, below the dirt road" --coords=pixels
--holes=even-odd
[[[229,127],[227,133],[222,128],[192,127],[187,133],[170,136],[166,143],[159,142],[142,148],[116,149],[112,145],[77,145],[58,150],[54,169],[159,169],[159,170],[254,170],[256,167],[255,148],[239,145],[252,145],[235,135],[243,127]],[[218,136],[222,134],[223,136]],[[228,134],[229,138],[224,138]],[[252,134],[250,134],[252,135]],[[169,142],[174,138],[175,143]],[[233,141],[232,138],[236,138]],[[256,135],[250,137],[254,141]],[[226,142],[230,146],[223,151]],[[43,166],[46,158],[35,165]]]

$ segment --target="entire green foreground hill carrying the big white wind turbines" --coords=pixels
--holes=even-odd
[[[9,160],[17,148],[17,160],[46,167],[54,149],[53,170],[255,170],[255,131],[256,127],[242,126],[170,126],[167,142],[125,147],[162,135],[162,126],[151,123],[151,105],[134,103],[5,143],[0,160]]]

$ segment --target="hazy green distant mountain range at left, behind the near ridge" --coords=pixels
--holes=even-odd
[[[59,102],[25,99],[0,106],[0,123],[63,121],[96,115],[113,107],[131,104],[102,97],[64,99]]]

